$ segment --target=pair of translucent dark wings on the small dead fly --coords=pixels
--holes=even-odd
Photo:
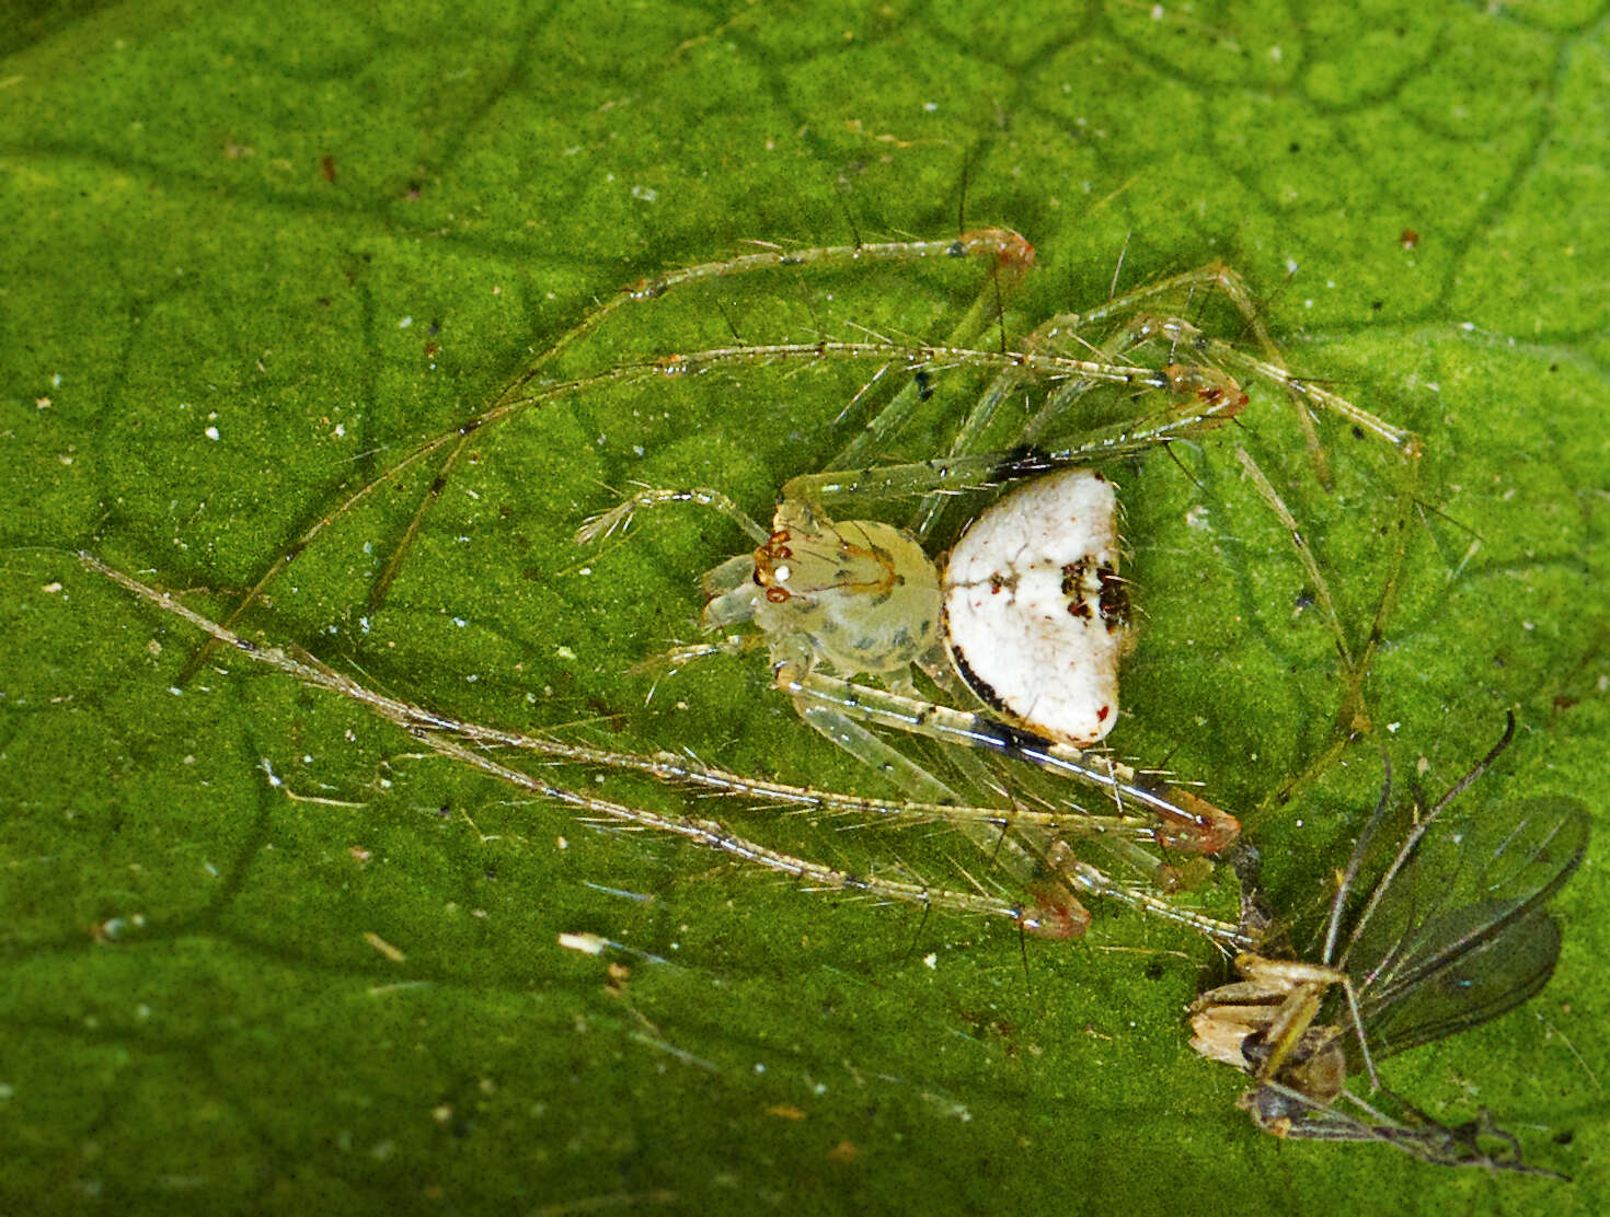
[[[1549,898],[1587,848],[1570,798],[1439,821],[1377,892],[1344,967],[1377,1056],[1452,1035],[1526,1001],[1560,953]]]

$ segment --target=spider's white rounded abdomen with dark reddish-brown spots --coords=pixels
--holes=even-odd
[[[1117,721],[1129,597],[1117,496],[1088,468],[1027,483],[956,541],[942,584],[956,671],[995,712],[1074,745]]]

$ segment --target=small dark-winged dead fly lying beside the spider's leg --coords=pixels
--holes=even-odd
[[[1547,901],[1587,850],[1586,807],[1536,798],[1489,821],[1451,811],[1513,732],[1510,715],[1497,745],[1414,816],[1344,932],[1354,885],[1388,819],[1388,781],[1340,873],[1319,963],[1243,953],[1235,961],[1241,980],[1193,1005],[1191,1048],[1254,1079],[1240,1106],[1264,1132],[1377,1141],[1441,1165],[1549,1174],[1521,1162],[1515,1138],[1484,1112],[1476,1124],[1444,1127],[1385,1090],[1375,1069],[1383,1056],[1513,1009],[1554,972],[1560,927]],[[1327,1006],[1327,993],[1341,996]],[[1354,1069],[1380,1091],[1373,1103],[1346,1088]]]

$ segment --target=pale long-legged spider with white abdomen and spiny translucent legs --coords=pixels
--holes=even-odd
[[[927,261],[977,262],[985,269],[972,307],[940,343],[900,341],[879,335],[855,340],[818,336],[815,341],[737,341],[658,349],[583,375],[544,382],[551,365],[572,348],[584,346],[613,314],[694,285],[721,285],[766,270],[816,274],[865,264]],[[914,808],[964,807],[974,790],[1003,792],[1006,807],[997,810],[993,818],[969,821],[956,815],[952,819],[963,823],[968,835],[1001,861],[1008,874],[1042,889],[1037,895],[1042,911],[1019,916],[1022,924],[1032,922],[1032,927],[1043,932],[1051,932],[1053,927],[1059,934],[1079,932],[1088,914],[1074,890],[1092,889],[1087,879],[1080,879],[1079,866],[1069,855],[1067,837],[1095,837],[1093,848],[1169,889],[1182,882],[1180,873],[1161,861],[1148,845],[1156,842],[1172,850],[1212,853],[1233,839],[1236,819],[1185,786],[1137,773],[1119,760],[1090,752],[1088,745],[1096,744],[1116,721],[1116,663],[1129,633],[1127,591],[1117,573],[1119,544],[1111,497],[1093,502],[1092,510],[1085,512],[1095,530],[1090,538],[1077,541],[1074,551],[1055,562],[1045,555],[1037,559],[1040,567],[1051,562],[1055,573],[1071,588],[1059,591],[1066,615],[1075,626],[1074,637],[1059,644],[1064,650],[1058,662],[1088,668],[1088,678],[1082,676],[1077,692],[1067,699],[1079,705],[1064,705],[1050,716],[1043,686],[1008,687],[1014,671],[1034,666],[1034,660],[1024,658],[1016,642],[1003,639],[1003,628],[1009,631],[1014,626],[1003,626],[993,613],[984,613],[971,626],[972,633],[961,621],[968,612],[979,615],[997,599],[969,597],[972,589],[1005,589],[1006,580],[1016,581],[1019,573],[1029,573],[1029,567],[1035,565],[1027,563],[1024,571],[1016,571],[1011,562],[1003,565],[1000,541],[984,541],[990,531],[985,523],[997,512],[1016,510],[1021,515],[1027,502],[1021,496],[1046,491],[1037,489],[1042,483],[1029,481],[1027,488],[1018,489],[1013,497],[979,517],[979,523],[956,541],[943,576],[948,583],[940,586],[940,576],[927,554],[934,538],[943,533],[947,502],[963,493],[990,491],[1040,473],[1055,475],[1055,481],[1045,485],[1082,486],[1088,491],[1103,485],[1100,478],[1080,472],[1090,464],[1111,464],[1150,448],[1206,436],[1232,420],[1246,404],[1238,380],[1246,377],[1265,378],[1298,402],[1304,446],[1322,481],[1328,481],[1330,472],[1325,448],[1315,431],[1315,407],[1335,414],[1357,433],[1386,441],[1404,454],[1406,467],[1412,467],[1418,443],[1412,433],[1352,406],[1312,380],[1291,375],[1265,332],[1245,282],[1222,264],[1125,291],[1084,314],[1053,316],[1014,344],[1006,343],[1001,324],[1000,343],[990,348],[990,324],[1001,317],[1003,301],[1029,275],[1034,262],[1032,246],[1018,233],[982,229],[940,241],[765,250],[628,285],[552,343],[488,409],[451,431],[419,443],[378,476],[346,493],[283,549],[221,628],[233,629],[242,613],[328,528],[406,470],[440,457],[428,493],[375,578],[370,608],[382,605],[409,544],[420,533],[430,507],[441,497],[469,446],[494,425],[523,410],[591,391],[687,380],[718,370],[868,365],[873,373],[858,398],[865,396],[871,402],[886,377],[902,383],[894,386],[887,401],[868,410],[861,430],[829,462],[826,472],[794,478],[784,486],[771,528],[755,523],[724,493],[699,488],[633,496],[597,517],[584,530],[584,536],[597,539],[625,525],[642,507],[678,501],[705,504],[739,523],[757,541],[758,549],[707,575],[707,625],[720,629],[752,621],[760,631],[752,637],[766,639],[773,683],[794,700],[805,721],[889,778]],[[1243,330],[1259,348],[1257,354],[1208,335],[1185,317],[1150,311],[1180,298],[1190,303],[1198,295],[1227,299]],[[1106,328],[1114,319],[1127,320]],[[1098,333],[1098,343],[1085,336],[1098,330],[1106,330]],[[990,380],[964,417],[953,425],[947,456],[894,465],[868,464],[889,451],[900,436],[916,430],[924,407],[939,396],[935,382],[940,377],[964,372],[985,373]],[[1100,401],[1096,390],[1101,386],[1114,388],[1121,394],[1119,401]],[[1138,406],[1135,396],[1140,398]],[[1019,409],[1019,402],[1027,409]],[[1072,438],[1067,438],[1069,433]],[[1338,715],[1338,723],[1343,724],[1340,739],[1359,718],[1359,687],[1368,657],[1380,641],[1386,600],[1383,599],[1364,644],[1351,646],[1294,518],[1249,457],[1245,457],[1245,464],[1264,499],[1288,526],[1298,554],[1325,600],[1346,668],[1343,712]],[[887,502],[903,496],[919,499],[916,514],[905,528],[879,520],[836,523],[829,515],[829,509],[837,510],[839,504]],[[1043,510],[1035,509],[1032,515],[1038,518]],[[1401,536],[1399,526],[1393,562],[1401,557]],[[972,551],[977,551],[980,573],[976,578],[958,575],[961,567],[956,555],[964,557]],[[837,586],[813,591],[813,581],[821,578],[837,581]],[[1391,581],[1389,578],[1388,588]],[[823,607],[823,591],[836,607]],[[876,607],[886,592],[887,605]],[[942,604],[935,604],[935,592],[942,592]],[[971,608],[969,600],[976,602]],[[836,620],[839,642],[826,641],[826,618]],[[187,676],[206,658],[211,646],[209,642],[196,652]],[[679,665],[702,654],[745,646],[752,642],[723,641],[681,649],[673,654],[671,662]],[[940,697],[919,695],[913,671],[921,671],[937,686]],[[853,681],[858,673],[881,678],[882,686]],[[966,749],[947,749],[945,763],[969,787],[969,797],[963,797],[953,789],[955,782],[935,776],[931,765],[913,760],[879,731],[985,749],[1030,761],[1053,776],[1072,776],[1103,790],[1116,805],[1114,816],[1087,816],[1056,787],[1021,773],[1003,778]],[[1030,826],[1024,816],[1016,815],[1026,803],[1050,808],[1055,827]],[[1137,811],[1154,818],[1150,832],[1135,829]],[[1003,829],[1005,821],[1011,823],[1011,832]],[[1082,824],[1077,831],[1072,827],[1075,821]],[[1125,831],[1108,831],[1108,821],[1124,824]]]

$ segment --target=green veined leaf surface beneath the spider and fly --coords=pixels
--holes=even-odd
[[[1552,985],[1388,1071],[1435,1116],[1491,1106],[1576,1183],[1278,1145],[1185,1045],[1222,969],[1199,940],[1098,910],[1088,942],[1021,943],[808,895],[417,758],[245,662],[174,692],[195,633],[74,559],[227,612],[340,486],[485,409],[621,283],[752,240],[948,237],[964,196],[968,225],[1038,250],[1011,333],[1103,301],[1121,253],[1125,287],[1224,259],[1299,372],[1425,439],[1375,731],[1261,818],[1340,686],[1232,451],[1288,496],[1354,641],[1396,459],[1327,425],[1322,491],[1290,407],[1249,385],[1243,430],[1180,452],[1190,476],[1121,470],[1146,618],[1116,747],[1248,813],[1290,906],[1346,856],[1377,747],[1435,794],[1510,707],[1520,737],[1465,797],[1602,818],[1597,8],[82,10],[29,18],[0,66],[0,1207],[1604,1209],[1602,845],[1557,900]],[[564,367],[734,333],[937,338],[977,287],[971,266],[729,280],[623,309]],[[470,718],[866,786],[758,660],[628,671],[694,637],[699,573],[742,546],[724,522],[667,509],[572,542],[636,480],[763,515],[865,378],[745,369],[528,412],[478,438],[385,608],[367,588],[425,467],[245,625]],[[969,385],[942,377],[937,407]],[[745,827],[987,869],[939,831]],[[581,932],[615,947],[560,945]]]

